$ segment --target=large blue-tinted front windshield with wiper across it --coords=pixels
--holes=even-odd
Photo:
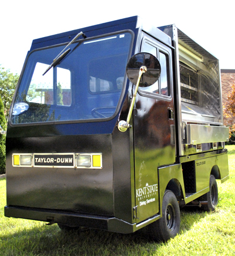
[[[12,124],[112,117],[122,99],[131,41],[132,34],[123,32],[76,42],[45,75],[65,45],[32,52],[15,97]]]

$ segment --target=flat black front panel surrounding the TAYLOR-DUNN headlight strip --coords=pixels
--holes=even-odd
[[[12,167],[18,152],[102,152],[103,168]],[[112,165],[110,134],[8,138],[7,204],[113,215]]]

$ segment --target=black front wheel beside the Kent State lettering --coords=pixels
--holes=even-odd
[[[162,201],[162,218],[149,225],[150,235],[155,241],[167,241],[180,230],[180,208],[176,196],[166,190]]]

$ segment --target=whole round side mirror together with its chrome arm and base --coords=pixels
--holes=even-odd
[[[149,87],[154,84],[160,77],[161,66],[158,59],[147,52],[140,52],[130,58],[126,65],[126,74],[130,82],[136,85],[132,102],[130,102],[129,112],[126,121],[122,120],[117,124],[120,132],[125,132],[130,127],[130,117],[134,108],[136,94],[140,87]]]

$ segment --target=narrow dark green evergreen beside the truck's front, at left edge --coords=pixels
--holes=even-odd
[[[4,104],[0,98],[0,125],[4,131],[6,130],[6,119],[4,115]],[[4,174],[6,171],[6,135],[0,134],[0,174]]]

